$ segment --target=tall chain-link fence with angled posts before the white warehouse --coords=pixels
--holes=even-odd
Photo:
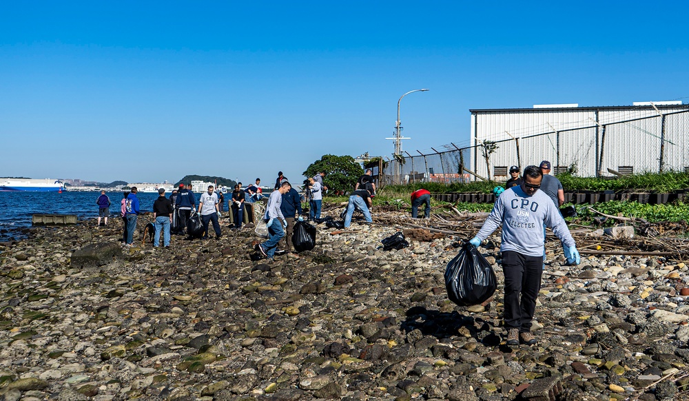
[[[382,164],[385,184],[455,183],[504,180],[508,168],[551,161],[555,173],[606,176],[612,172],[689,172],[689,111],[595,124],[495,141],[486,163],[483,145],[451,143],[421,152],[404,152]],[[489,167],[490,165],[490,167]],[[490,172],[489,172],[490,168]]]

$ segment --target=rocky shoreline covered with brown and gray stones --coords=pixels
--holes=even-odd
[[[677,261],[567,267],[553,252],[539,343],[506,347],[497,236],[480,248],[495,298],[457,307],[453,236],[410,231],[410,247],[382,251],[395,227],[319,225],[316,249],[266,263],[249,260],[250,229],[123,249],[110,221],[0,246],[2,400],[689,399]]]

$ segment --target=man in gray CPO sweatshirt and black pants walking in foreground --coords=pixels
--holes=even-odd
[[[559,209],[539,190],[543,173],[536,166],[524,169],[522,184],[511,187],[495,201],[491,214],[469,242],[478,247],[502,225],[502,269],[505,276],[504,322],[507,345],[535,345],[531,320],[543,274],[543,225],[562,240],[569,264],[579,264],[579,252]]]

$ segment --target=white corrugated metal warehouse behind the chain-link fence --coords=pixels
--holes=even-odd
[[[610,170],[689,171],[689,105],[680,101],[470,112],[469,169],[478,176],[505,179],[509,166],[523,170],[542,160],[551,161],[556,173],[573,167],[577,176],[585,177],[609,176]],[[484,141],[497,145],[489,156],[490,172]]]

